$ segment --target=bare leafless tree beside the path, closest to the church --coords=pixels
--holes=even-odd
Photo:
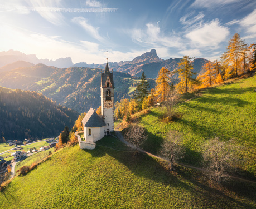
[[[124,138],[131,143],[132,148],[138,150],[139,146],[147,139],[146,130],[137,124],[133,124],[125,132]]]

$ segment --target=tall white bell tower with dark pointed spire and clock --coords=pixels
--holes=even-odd
[[[109,135],[110,131],[114,131],[114,79],[113,71],[110,73],[108,68],[108,58],[105,71],[102,73],[100,91],[101,111],[106,123],[105,134]]]

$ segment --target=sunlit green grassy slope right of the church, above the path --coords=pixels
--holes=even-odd
[[[144,148],[157,153],[166,133],[177,130],[187,147],[184,161],[199,165],[202,142],[215,136],[225,141],[236,138],[244,146],[243,170],[256,176],[255,89],[256,76],[207,88],[200,97],[178,105],[180,119],[171,122],[162,120],[161,108],[153,108],[141,116],[141,124],[149,133]]]

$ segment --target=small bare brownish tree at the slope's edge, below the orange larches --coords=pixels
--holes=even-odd
[[[167,99],[163,103],[163,107],[165,108],[165,117],[170,121],[176,114],[175,105],[177,105],[179,99],[180,94],[177,93],[175,87],[171,86],[170,91],[167,93]]]

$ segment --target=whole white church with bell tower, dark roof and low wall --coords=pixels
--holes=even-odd
[[[85,141],[81,141],[78,135],[81,149],[95,148],[96,141],[114,131],[114,79],[113,71],[111,73],[108,68],[108,59],[105,71],[101,73],[100,98],[101,115],[90,108],[82,120]]]

